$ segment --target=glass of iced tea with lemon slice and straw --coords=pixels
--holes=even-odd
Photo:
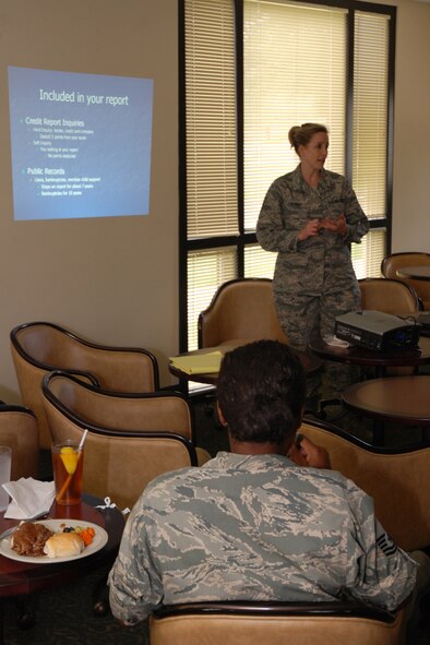
[[[58,504],[79,504],[82,500],[84,446],[67,439],[52,443],[52,469]]]

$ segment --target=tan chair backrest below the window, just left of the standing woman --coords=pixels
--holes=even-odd
[[[199,347],[263,338],[288,342],[276,315],[272,280],[243,278],[224,283],[199,316]]]

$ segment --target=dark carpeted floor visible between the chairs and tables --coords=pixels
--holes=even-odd
[[[198,444],[215,455],[218,450],[228,450],[228,441],[214,411],[211,397],[194,404]],[[369,438],[368,423],[351,415],[342,414],[335,406],[326,409],[329,420],[336,420],[349,431],[363,439]],[[407,441],[419,438],[419,430],[407,431]],[[405,428],[393,428],[389,441],[393,444],[405,442]],[[43,464],[43,467],[48,467]],[[121,628],[112,616],[95,616],[93,612],[93,588],[101,577],[101,571],[92,573],[79,583],[45,592],[33,598],[36,622],[33,628],[22,630],[17,626],[17,608],[13,600],[3,604],[5,645],[148,645],[146,625],[132,629]],[[174,645],[174,644],[172,644]],[[415,632],[408,645],[430,645],[430,631]]]

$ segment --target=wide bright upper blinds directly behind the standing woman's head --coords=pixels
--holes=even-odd
[[[346,11],[265,0],[243,3],[244,228],[274,179],[299,159],[292,126],[330,131],[326,168],[345,171]]]

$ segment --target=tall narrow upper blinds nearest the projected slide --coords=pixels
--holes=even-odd
[[[238,231],[231,0],[186,2],[188,238]]]

